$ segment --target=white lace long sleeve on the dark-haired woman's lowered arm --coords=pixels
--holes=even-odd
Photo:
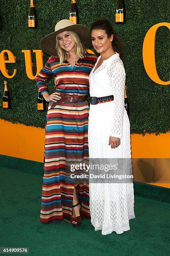
[[[114,95],[113,123],[110,136],[122,138],[126,74],[121,59],[114,60],[108,72]]]

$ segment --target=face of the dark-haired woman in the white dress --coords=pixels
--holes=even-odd
[[[105,30],[102,29],[93,29],[91,31],[92,45],[97,51],[97,53],[102,54],[108,50],[112,49],[112,39],[113,35],[109,38],[105,33]]]

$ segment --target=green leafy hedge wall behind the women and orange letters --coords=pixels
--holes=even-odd
[[[0,31],[0,51],[11,50],[17,56],[16,64],[7,64],[10,74],[17,68],[13,79],[7,79],[12,98],[12,108],[4,110],[0,101],[0,118],[12,123],[23,123],[45,127],[46,113],[37,111],[37,87],[25,72],[23,49],[40,49],[42,37],[54,31],[55,24],[68,18],[70,0],[35,0],[38,28],[28,28],[29,0],[0,1],[0,15],[3,22]],[[145,34],[150,27],[160,22],[169,22],[169,0],[126,0],[126,23],[115,26],[115,5],[117,0],[77,0],[80,24],[90,28],[98,19],[112,23],[125,49],[125,70],[127,74],[130,104],[131,133],[166,133],[170,131],[170,85],[153,82],[143,66],[142,48]],[[156,64],[161,79],[170,79],[170,31],[158,29],[155,39]],[[35,63],[35,54],[32,60]],[[44,55],[44,64],[49,56]],[[35,65],[34,65],[35,66]],[[35,72],[35,67],[34,67]],[[0,93],[3,81],[0,73]],[[53,92],[53,78],[49,91]]]

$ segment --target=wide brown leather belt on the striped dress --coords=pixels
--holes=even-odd
[[[60,100],[57,100],[57,102],[53,102],[51,105],[51,109],[54,108],[58,104],[63,104],[67,102],[71,103],[78,103],[78,102],[84,102],[87,99],[87,95],[79,96],[79,95],[69,95],[67,93],[60,92],[61,97]]]

